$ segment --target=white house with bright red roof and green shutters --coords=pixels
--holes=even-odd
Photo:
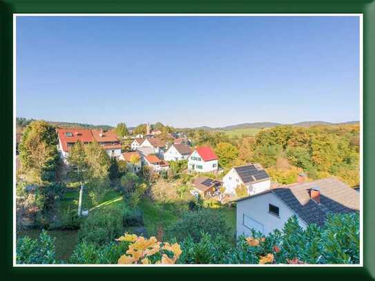
[[[188,157],[188,169],[190,172],[217,173],[218,156],[215,155],[209,146],[195,148],[193,153]]]

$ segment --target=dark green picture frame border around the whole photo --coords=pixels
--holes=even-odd
[[[364,267],[12,267],[12,167],[13,167],[13,77],[12,15],[14,13],[362,13],[363,14],[363,263]],[[31,0],[0,2],[0,104],[1,179],[3,204],[3,254],[1,267],[7,278],[340,278],[375,279],[375,3],[365,0]],[[5,243],[4,243],[5,242]],[[171,278],[171,276],[169,277]],[[154,279],[153,279],[154,280]]]

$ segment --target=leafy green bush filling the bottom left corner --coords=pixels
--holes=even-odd
[[[19,238],[16,246],[17,264],[55,264],[55,238],[42,231],[39,239]]]

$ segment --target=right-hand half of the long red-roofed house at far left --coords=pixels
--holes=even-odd
[[[113,130],[91,130],[99,146],[102,146],[110,157],[120,157],[122,145]]]

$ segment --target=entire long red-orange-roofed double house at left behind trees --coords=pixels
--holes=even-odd
[[[72,148],[76,142],[81,142],[82,144],[98,142],[111,157],[119,157],[121,155],[121,143],[113,131],[58,128],[57,135],[59,137],[59,153],[64,159],[64,162],[66,162],[66,157],[68,157],[70,148]]]

